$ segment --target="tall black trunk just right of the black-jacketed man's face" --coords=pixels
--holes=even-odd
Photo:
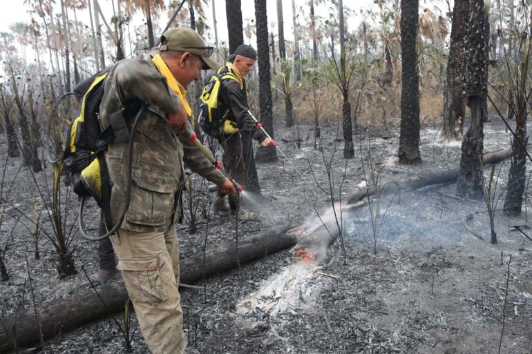
[[[274,137],[274,115],[272,112],[272,87],[270,86],[268,18],[266,1],[255,0],[257,26],[258,97],[260,121],[268,134]],[[277,153],[273,146],[258,148],[257,161],[276,161]]]

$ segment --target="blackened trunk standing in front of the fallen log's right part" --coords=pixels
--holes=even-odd
[[[462,140],[460,173],[457,180],[457,195],[481,199],[483,189],[482,154],[484,152],[483,95],[486,91],[486,47],[485,35],[488,18],[484,0],[469,2],[471,16],[468,21],[468,52],[466,66],[466,97],[471,109],[471,125]]]

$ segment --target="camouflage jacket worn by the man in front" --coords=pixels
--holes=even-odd
[[[162,232],[182,216],[183,164],[215,184],[221,184],[225,177],[196,146],[167,126],[166,113],[175,112],[180,102],[149,56],[125,59],[111,68],[100,104],[102,128],[110,124],[109,115],[135,99],[146,104],[146,111],[133,137],[131,201],[121,227],[135,232]],[[133,120],[126,119],[129,131]],[[111,214],[116,223],[125,204],[128,142],[111,141],[106,163],[113,182]]]

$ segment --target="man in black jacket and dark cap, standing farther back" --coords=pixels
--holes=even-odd
[[[247,108],[245,77],[253,70],[256,59],[255,49],[241,44],[229,56],[225,67],[218,70],[223,73],[218,104],[222,112],[229,110],[218,139],[223,147],[225,169],[245,189],[260,193],[251,139],[256,139],[260,146],[269,146],[273,141],[258,128]],[[213,204],[214,210],[227,208],[223,198],[223,192],[218,194]],[[231,215],[238,219],[257,219],[254,213],[240,208],[238,204],[238,195],[229,197]]]

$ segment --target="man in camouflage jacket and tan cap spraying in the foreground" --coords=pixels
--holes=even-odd
[[[124,284],[135,307],[142,335],[153,354],[184,353],[179,285],[179,246],[175,221],[182,217],[183,164],[236,193],[233,184],[179,133],[188,128],[191,108],[185,99],[189,83],[201,69],[218,68],[198,33],[188,28],[164,32],[159,50],[143,59],[125,59],[106,78],[100,117],[104,128],[110,115],[146,106],[133,134],[131,177],[126,169],[128,142],[111,141],[106,163],[113,182],[111,210],[118,222],[125,190],[132,180],[131,201],[120,230],[111,236]],[[114,117],[114,116],[113,116]]]

